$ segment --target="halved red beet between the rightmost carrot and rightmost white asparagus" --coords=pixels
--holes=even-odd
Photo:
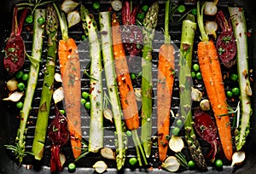
[[[218,11],[216,18],[222,30],[216,44],[218,57],[225,67],[230,68],[236,64],[236,38],[234,37],[230,21],[226,20],[222,11]]]

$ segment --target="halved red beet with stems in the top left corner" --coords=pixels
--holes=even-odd
[[[20,33],[22,32],[22,27],[24,20],[26,19],[27,12],[28,9],[23,10],[18,24],[18,7],[14,8],[12,31],[5,45],[5,55],[3,58],[3,66],[9,74],[18,72],[25,61],[26,49]]]

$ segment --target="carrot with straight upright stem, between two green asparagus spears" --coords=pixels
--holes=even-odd
[[[157,128],[158,152],[160,161],[166,159],[170,133],[170,108],[174,82],[174,49],[169,35],[169,7],[166,1],[165,44],[160,46],[157,75]]]

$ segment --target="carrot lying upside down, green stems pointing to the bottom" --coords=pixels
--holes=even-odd
[[[137,128],[139,128],[140,125],[138,118],[137,101],[133,86],[131,84],[129,67],[125,56],[125,49],[122,44],[119,20],[115,13],[113,13],[112,15],[111,24],[113,39],[113,59],[115,64],[115,73],[117,76],[117,85],[119,89],[121,107],[124,113],[125,125],[127,129],[131,130],[132,139],[137,150],[137,159],[139,165],[143,165],[140,157],[140,152],[143,155],[145,165],[148,165],[148,161],[144,154],[140,139],[137,136]]]

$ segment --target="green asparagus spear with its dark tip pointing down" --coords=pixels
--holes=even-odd
[[[179,98],[180,98],[180,113],[185,119],[185,140],[188,143],[189,151],[196,165],[202,170],[207,170],[205,158],[201,152],[201,146],[196,139],[193,128],[193,119],[191,113],[191,60],[193,54],[193,44],[195,37],[196,23],[194,15],[188,15],[186,20],[183,20],[182,36],[180,44],[179,57]]]

